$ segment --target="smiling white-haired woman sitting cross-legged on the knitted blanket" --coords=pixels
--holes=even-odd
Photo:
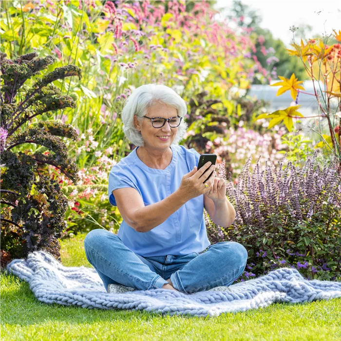
[[[185,101],[162,84],[142,85],[122,111],[124,132],[136,146],[109,174],[109,201],[123,221],[117,235],[90,231],[84,247],[108,292],[170,289],[229,290],[244,271],[247,251],[236,242],[208,241],[204,208],[228,227],[235,210],[224,179],[200,154],[179,146],[186,134]]]

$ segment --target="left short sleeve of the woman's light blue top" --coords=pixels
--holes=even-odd
[[[119,165],[114,165],[109,173],[108,196],[110,204],[117,206],[113,190],[125,187],[132,187],[139,191],[132,176],[130,176],[125,167],[122,168]]]

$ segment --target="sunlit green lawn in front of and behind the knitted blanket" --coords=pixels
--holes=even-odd
[[[66,266],[91,266],[85,234],[62,240]],[[0,340],[340,340],[341,299],[276,303],[219,317],[161,316],[39,302],[26,282],[0,273]]]

